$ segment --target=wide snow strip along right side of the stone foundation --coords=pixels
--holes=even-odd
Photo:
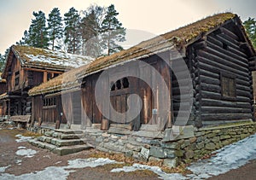
[[[256,134],[230,144],[216,151],[218,154],[209,160],[200,160],[189,166],[194,174],[189,178],[207,178],[218,176],[241,165],[246,165],[249,160],[256,160]]]

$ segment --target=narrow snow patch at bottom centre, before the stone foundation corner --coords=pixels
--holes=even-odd
[[[162,171],[159,166],[149,166],[149,165],[140,165],[140,164],[133,164],[131,166],[116,168],[111,170],[111,172],[119,172],[119,171],[130,172],[130,171],[137,171],[137,170],[154,171],[154,173],[157,174],[159,178],[162,178],[162,179],[180,179],[180,180],[187,179],[186,177],[183,177],[183,175],[178,173],[168,174]]]

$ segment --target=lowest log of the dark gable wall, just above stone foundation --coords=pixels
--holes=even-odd
[[[201,120],[236,120],[236,119],[252,119],[252,113],[203,113]]]

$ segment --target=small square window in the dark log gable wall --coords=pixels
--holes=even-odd
[[[224,97],[236,97],[236,78],[221,74],[221,92]]]

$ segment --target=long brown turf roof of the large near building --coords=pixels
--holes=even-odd
[[[167,32],[158,37],[143,41],[130,49],[125,49],[113,55],[97,58],[95,61],[90,62],[90,64],[79,67],[77,71],[74,69],[71,72],[64,73],[64,76],[66,78],[72,75],[74,77],[71,79],[72,82],[77,82],[76,76],[83,78],[91,73],[96,73],[114,64],[129,61],[143,55],[148,55],[160,49],[165,49],[168,47],[170,48],[170,46],[173,45],[183,46],[186,44],[191,44],[193,43],[193,40],[201,36],[202,33],[209,32],[235,17],[237,17],[237,15],[231,13],[209,16],[203,20],[198,20],[195,23],[189,24],[188,26],[183,26],[172,32]],[[45,94],[61,90],[61,86],[63,86],[62,88],[64,89],[68,89],[72,88],[72,86],[76,87],[79,85],[77,83],[73,84],[72,82],[67,83],[67,79],[66,83],[63,84],[62,79],[64,76],[61,75],[57,78],[51,79],[49,82],[39,85],[38,87],[34,87],[29,91],[29,94],[31,96],[36,96],[38,94]]]

